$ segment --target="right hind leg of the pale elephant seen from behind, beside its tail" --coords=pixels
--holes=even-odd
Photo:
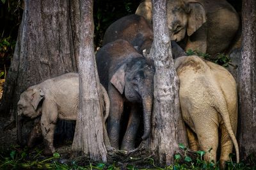
[[[227,129],[222,123],[220,125],[220,130],[221,130],[221,155],[220,155],[220,165],[222,168],[225,166],[225,161],[230,160],[229,154],[232,153],[233,149],[233,143],[232,140],[230,139]]]

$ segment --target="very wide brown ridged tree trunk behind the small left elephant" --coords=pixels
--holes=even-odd
[[[78,33],[72,16],[79,9],[74,9],[73,3],[25,0],[15,53],[4,85],[1,116],[12,115],[15,120],[20,93],[29,86],[63,73],[77,72],[74,35]],[[32,124],[24,127],[24,138]]]

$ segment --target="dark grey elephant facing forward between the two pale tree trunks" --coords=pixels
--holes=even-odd
[[[96,54],[100,83],[108,89],[110,111],[108,135],[111,146],[119,149],[120,122],[124,102],[131,105],[121,150],[133,150],[143,106],[143,140],[150,135],[153,102],[154,63],[144,58],[125,40],[104,45]]]

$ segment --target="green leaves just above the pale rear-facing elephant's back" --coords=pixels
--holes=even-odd
[[[200,52],[198,50],[188,49],[186,51],[186,54],[188,56],[196,55],[196,56],[202,57],[204,59],[207,59],[208,61],[211,61],[213,63],[216,63],[217,65],[221,65],[221,66],[224,66],[224,67],[227,67],[228,63],[231,62],[231,59],[229,58],[229,56],[224,55],[224,54],[220,54],[220,53],[217,54],[217,56],[216,56],[217,59],[210,59],[211,56],[209,54],[206,54],[204,52]]]

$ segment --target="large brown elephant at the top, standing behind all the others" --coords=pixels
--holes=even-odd
[[[152,3],[140,3],[136,14],[152,23]],[[214,58],[230,47],[239,29],[239,16],[225,0],[168,0],[170,37],[185,49],[208,53]]]

